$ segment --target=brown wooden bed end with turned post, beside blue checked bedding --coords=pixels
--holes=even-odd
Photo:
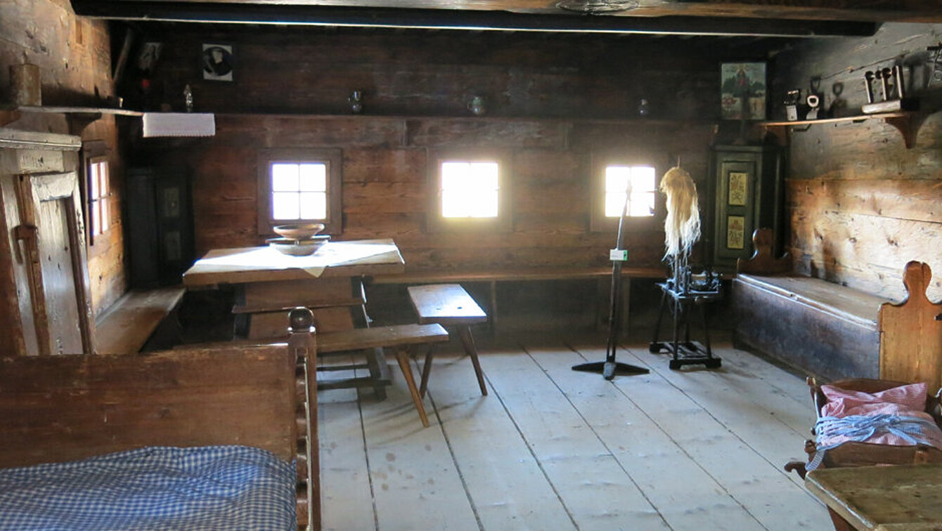
[[[310,311],[290,318],[288,342],[275,345],[0,359],[0,468],[152,445],[254,446],[297,459],[298,528],[319,529],[316,342]]]

